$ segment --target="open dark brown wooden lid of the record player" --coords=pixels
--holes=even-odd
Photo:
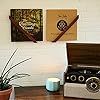
[[[100,44],[67,43],[68,64],[100,66]]]

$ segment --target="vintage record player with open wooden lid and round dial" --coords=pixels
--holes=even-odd
[[[67,43],[64,97],[100,100],[100,44]]]

